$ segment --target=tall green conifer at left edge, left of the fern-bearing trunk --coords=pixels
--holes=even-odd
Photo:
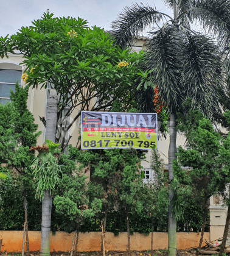
[[[9,172],[1,169],[5,172],[1,176],[7,175],[1,180],[1,229],[21,229],[24,219],[23,188],[31,202],[28,206],[28,215],[36,217],[39,212],[37,203],[31,199],[34,194],[30,166],[34,152],[29,151],[29,148],[35,146],[41,132],[37,132],[38,125],[33,123],[33,115],[27,109],[28,90],[28,86],[19,87],[16,82],[15,93],[11,91],[12,102],[0,104],[0,164],[7,163],[5,169],[9,169]],[[37,229],[40,225],[39,219],[33,219],[32,216],[28,218],[29,227]]]

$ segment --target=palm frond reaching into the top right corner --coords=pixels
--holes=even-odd
[[[229,54],[230,0],[194,1],[189,16],[192,21],[199,21],[209,34],[215,35],[220,47]]]

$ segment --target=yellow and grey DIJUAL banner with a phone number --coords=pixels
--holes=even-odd
[[[82,149],[158,148],[156,113],[82,112]]]

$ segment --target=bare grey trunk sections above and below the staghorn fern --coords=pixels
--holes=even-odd
[[[46,140],[51,140],[55,143],[56,126],[57,126],[57,91],[51,89],[47,103],[46,115]],[[41,249],[40,255],[49,256],[49,233],[51,232],[51,209],[52,197],[49,190],[43,197],[42,212],[41,212]]]

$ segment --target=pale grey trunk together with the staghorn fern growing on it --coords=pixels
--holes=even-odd
[[[42,215],[41,215],[41,249],[40,254],[43,256],[50,255],[49,235],[51,232],[51,209],[52,197],[51,190],[54,190],[56,183],[60,177],[60,166],[57,163],[55,154],[59,144],[55,144],[56,124],[57,124],[57,91],[51,90],[47,103],[46,115],[46,143],[47,146],[32,147],[31,150],[39,152],[35,158],[35,179],[37,180],[37,194],[42,199]]]

